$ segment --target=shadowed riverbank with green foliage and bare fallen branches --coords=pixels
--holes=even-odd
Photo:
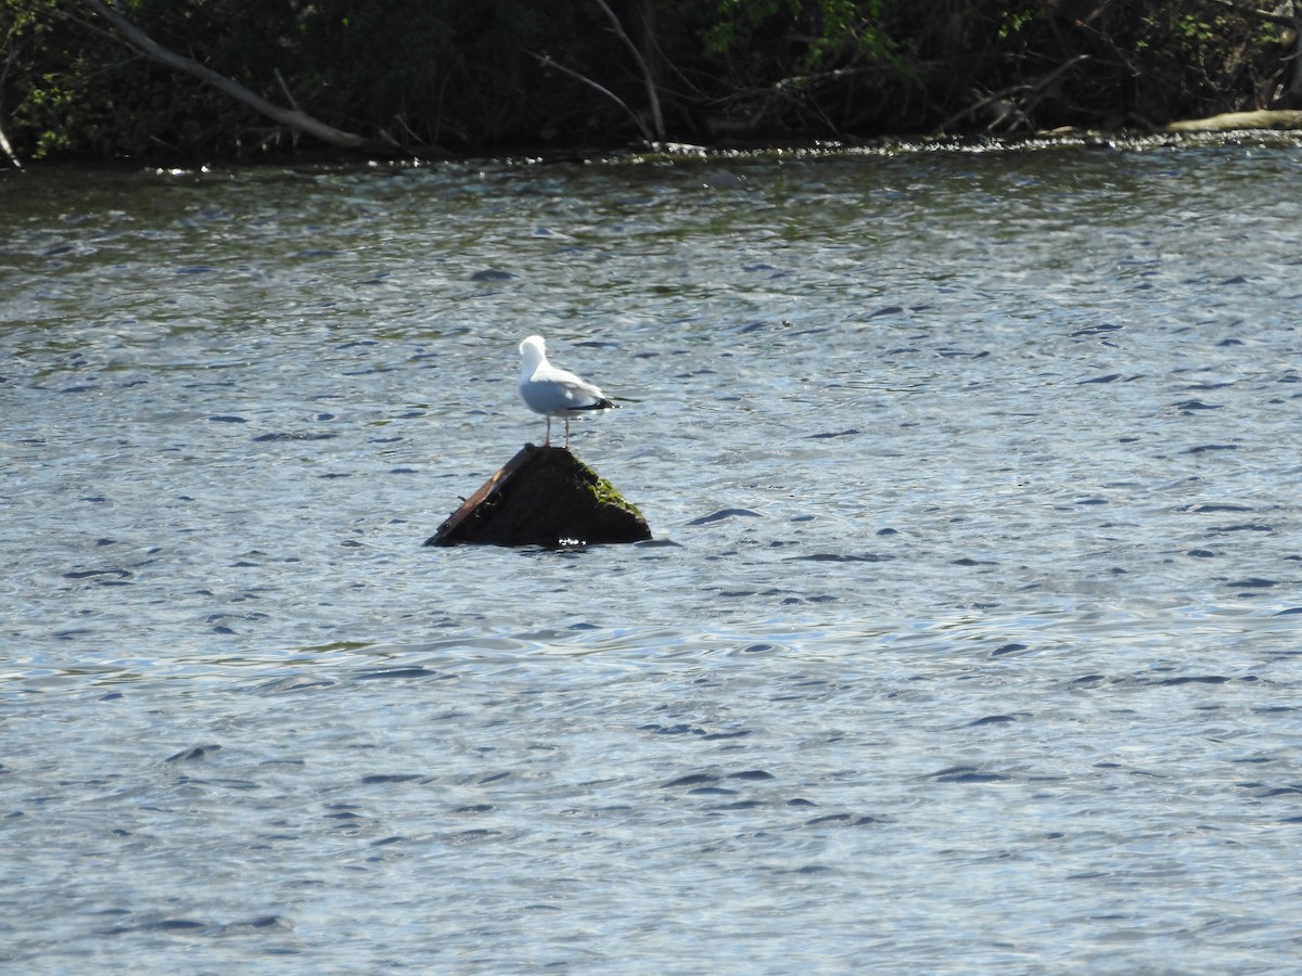
[[[1299,34],[1273,0],[0,0],[0,157],[1151,130],[1302,108]]]

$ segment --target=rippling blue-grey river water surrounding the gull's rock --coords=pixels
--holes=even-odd
[[[1299,176],[4,176],[0,962],[1289,968]],[[655,543],[422,547],[533,332]]]

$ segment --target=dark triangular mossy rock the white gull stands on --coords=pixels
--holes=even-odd
[[[526,444],[426,545],[585,545],[651,537],[642,513],[564,448]]]

